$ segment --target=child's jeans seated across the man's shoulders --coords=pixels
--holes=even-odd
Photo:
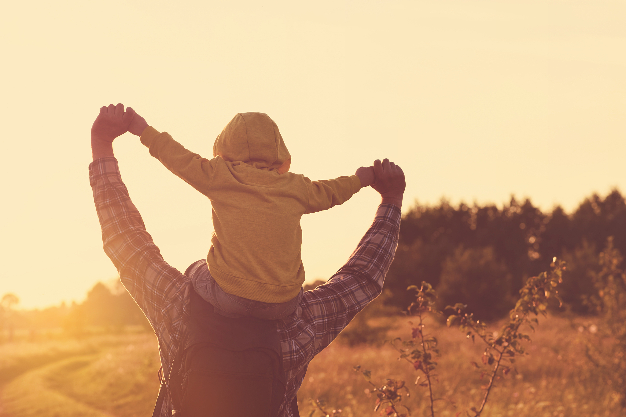
[[[303,289],[295,298],[285,303],[263,303],[252,299],[242,298],[233,294],[225,293],[215,282],[213,276],[208,271],[207,260],[201,259],[192,263],[185,274],[192,279],[193,289],[205,301],[213,304],[215,311],[222,316],[239,318],[255,317],[264,320],[277,320],[289,316],[295,311],[300,299],[302,299]]]

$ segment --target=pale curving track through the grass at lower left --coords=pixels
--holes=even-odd
[[[58,369],[94,359],[94,355],[74,356],[18,376],[0,391],[0,417],[112,417],[51,387],[51,376]]]

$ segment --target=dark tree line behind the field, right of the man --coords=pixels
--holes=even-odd
[[[434,206],[416,203],[403,216],[396,258],[386,279],[391,302],[406,306],[406,288],[432,283],[439,308],[466,303],[483,319],[508,311],[526,279],[548,268],[556,256],[567,262],[560,296],[573,313],[591,313],[592,275],[598,256],[613,236],[626,253],[626,203],[614,189],[605,198],[593,194],[571,214],[557,206],[543,213],[530,199],[495,204],[442,200]]]

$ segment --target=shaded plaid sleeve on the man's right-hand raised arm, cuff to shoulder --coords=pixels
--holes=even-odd
[[[359,311],[381,294],[398,246],[401,216],[398,206],[380,204],[374,223],[347,263],[326,284],[305,293],[302,313],[304,320],[315,329],[314,355],[326,348]]]

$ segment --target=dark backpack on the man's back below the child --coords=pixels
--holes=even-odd
[[[285,398],[277,323],[227,318],[191,291],[167,386],[176,417],[276,417]]]

